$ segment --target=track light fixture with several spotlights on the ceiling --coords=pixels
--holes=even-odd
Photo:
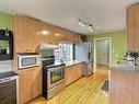
[[[79,25],[81,25],[81,26],[88,26],[91,32],[96,33],[96,30],[94,28],[94,26],[92,24],[88,23],[84,20],[79,19]]]

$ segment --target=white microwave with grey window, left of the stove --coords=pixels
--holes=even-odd
[[[38,54],[19,54],[18,55],[19,69],[37,67],[42,65],[42,58]]]

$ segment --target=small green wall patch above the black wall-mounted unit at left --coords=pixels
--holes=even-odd
[[[0,12],[0,30],[5,27],[13,30],[13,16],[11,14]]]

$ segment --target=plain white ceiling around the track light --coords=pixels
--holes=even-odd
[[[139,0],[0,0],[0,11],[25,14],[60,27],[89,34],[82,19],[102,32],[126,28],[126,8]]]

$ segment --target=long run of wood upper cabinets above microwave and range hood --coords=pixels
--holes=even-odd
[[[78,43],[81,39],[79,34],[26,16],[15,15],[13,24],[15,53],[34,53],[40,43]]]

